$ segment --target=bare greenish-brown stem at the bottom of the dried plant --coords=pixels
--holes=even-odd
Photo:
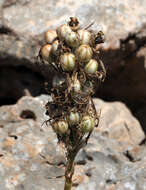
[[[71,190],[72,188],[72,176],[74,174],[74,159],[75,156],[72,156],[72,154],[70,154],[67,158],[64,190]]]

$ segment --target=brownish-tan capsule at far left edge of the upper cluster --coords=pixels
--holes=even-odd
[[[50,44],[46,44],[41,47],[40,54],[45,61],[50,61],[51,59],[51,48],[52,46]]]

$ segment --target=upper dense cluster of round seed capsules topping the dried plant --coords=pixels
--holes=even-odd
[[[67,24],[56,30],[48,30],[45,33],[45,41],[46,44],[39,53],[40,60],[45,65],[63,72],[82,68],[86,75],[99,77],[102,68],[98,67],[96,45],[104,41],[103,32],[94,34],[87,29],[81,29],[77,18],[71,17]],[[104,78],[103,72],[101,80]]]

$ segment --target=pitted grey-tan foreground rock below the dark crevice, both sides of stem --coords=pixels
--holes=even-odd
[[[48,119],[48,99],[25,96],[0,107],[0,189],[63,189],[64,149],[51,127],[42,125]],[[146,146],[140,124],[122,103],[94,101],[102,109],[100,125],[76,158],[73,189],[145,190]]]

